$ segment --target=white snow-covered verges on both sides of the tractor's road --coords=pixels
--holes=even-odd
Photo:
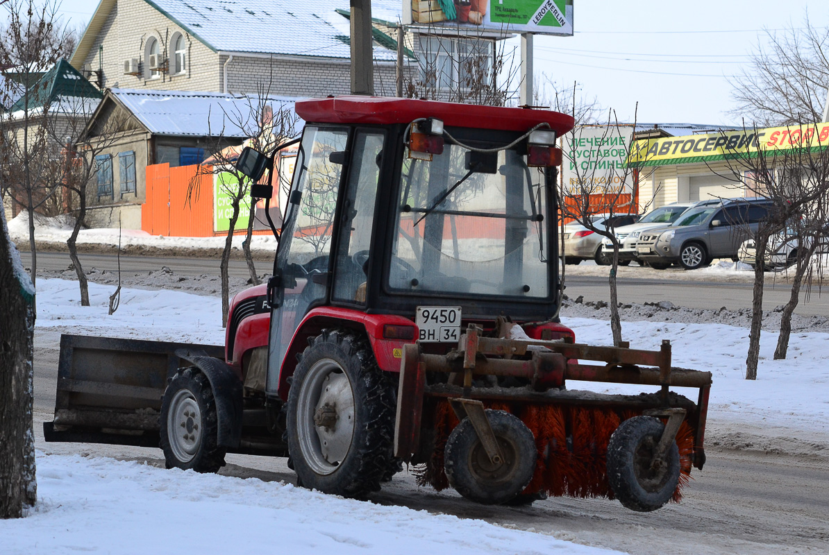
[[[92,306],[85,308],[77,301],[75,282],[41,279],[37,285],[41,299],[50,299],[39,303],[41,330],[79,326],[84,333],[145,339],[216,344],[224,339],[215,298],[127,288],[119,310],[108,316],[112,286],[90,283]],[[574,327],[579,340],[609,343],[604,321],[567,318],[565,324]],[[642,321],[626,323],[625,330],[631,344],[642,348],[655,349],[669,337],[676,365],[713,371],[711,421],[762,420],[773,427],[827,432],[829,369],[822,359],[829,334],[794,335],[791,359],[784,361],[771,360],[773,337],[764,335],[759,379],[748,382],[743,379],[744,328]],[[4,554],[79,549],[229,553],[271,548],[274,538],[291,553],[610,553],[477,520],[340,499],[255,478],[162,471],[134,461],[40,453],[38,478],[40,502],[29,518],[0,522]]]

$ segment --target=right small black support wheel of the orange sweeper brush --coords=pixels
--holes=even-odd
[[[654,417],[633,417],[613,432],[608,442],[608,482],[613,494],[628,509],[647,513],[671,500],[679,483],[680,461],[676,442],[667,461],[652,468],[653,454],[665,427]]]

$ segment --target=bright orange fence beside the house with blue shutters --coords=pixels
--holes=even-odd
[[[170,167],[153,164],[147,167],[147,200],[141,205],[141,229],[152,235],[166,237],[225,236],[224,231],[213,231],[213,175],[212,167]],[[191,184],[194,191],[187,200]],[[245,234],[245,228],[235,234]],[[254,231],[269,235],[268,229]]]

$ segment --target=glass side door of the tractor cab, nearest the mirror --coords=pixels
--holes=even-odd
[[[285,352],[303,316],[328,299],[348,135],[347,127],[307,126],[300,142],[269,295],[268,393],[277,393]]]

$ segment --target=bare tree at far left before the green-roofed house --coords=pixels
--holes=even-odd
[[[59,3],[46,0],[8,0],[6,26],[0,31],[0,75],[3,106],[0,165],[10,179],[7,195],[29,215],[29,249],[32,252],[32,282],[36,280],[35,212],[54,198],[55,163],[60,147],[48,138],[46,121],[51,109],[38,83],[41,75],[61,59],[69,33],[61,29],[56,12]]]

